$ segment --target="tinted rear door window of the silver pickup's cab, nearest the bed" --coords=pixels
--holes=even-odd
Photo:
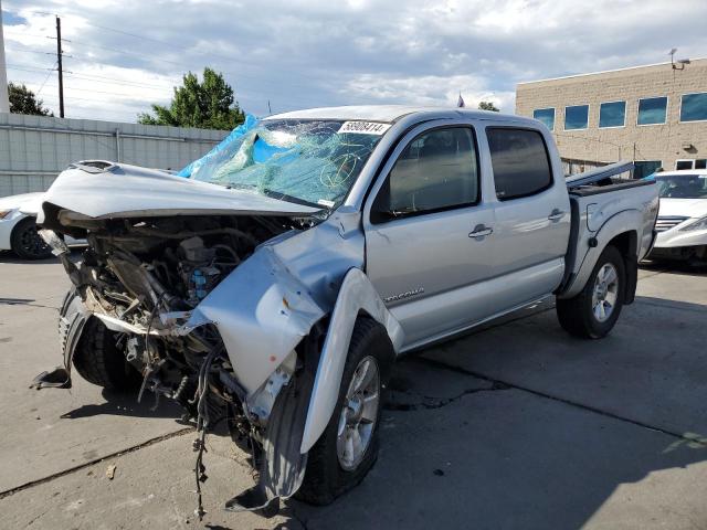
[[[486,129],[496,197],[500,201],[532,195],[552,186],[550,159],[536,130]]]

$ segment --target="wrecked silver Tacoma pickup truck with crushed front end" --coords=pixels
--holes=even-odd
[[[538,121],[401,106],[249,119],[188,178],[75,163],[38,219],[73,288],[35,384],[176,400],[199,491],[224,421],[258,471],[230,510],[330,502],[376,460],[398,356],[548,297],[572,335],[613,328],[658,209],[631,169],[566,179]]]

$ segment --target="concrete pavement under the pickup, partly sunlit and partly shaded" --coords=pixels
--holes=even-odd
[[[0,528],[199,528],[192,433],[60,363],[53,262],[0,256]],[[209,439],[208,528],[707,528],[707,275],[641,272],[611,337],[581,341],[541,305],[401,361],[363,483],[274,519],[223,512],[252,484]],[[106,468],[116,465],[113,479]]]

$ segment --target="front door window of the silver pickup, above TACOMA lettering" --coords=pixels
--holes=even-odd
[[[478,157],[468,127],[431,130],[408,144],[380,189],[371,221],[478,202]]]

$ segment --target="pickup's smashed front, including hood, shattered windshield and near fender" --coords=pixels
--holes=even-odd
[[[68,388],[72,368],[97,384],[127,371],[138,400],[177,401],[198,427],[200,517],[207,432],[225,422],[257,470],[226,508],[274,509],[333,417],[359,315],[402,343],[362,273],[360,212],[341,206],[379,138],[356,130],[249,119],[189,178],[87,161],[44,197],[38,224],[74,290],[60,320],[64,367],[35,385]],[[64,235],[88,242],[78,264]],[[84,373],[107,363],[123,379]]]

